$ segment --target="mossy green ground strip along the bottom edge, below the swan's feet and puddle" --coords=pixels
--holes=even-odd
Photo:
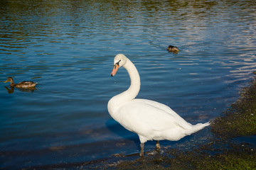
[[[245,146],[238,149],[239,147],[242,145],[234,145],[217,154],[209,154],[208,149],[201,149],[200,152],[180,152],[173,149],[165,154],[121,162],[114,169],[255,169],[255,150]],[[172,158],[173,156],[175,157]]]

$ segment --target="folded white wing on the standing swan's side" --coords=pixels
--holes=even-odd
[[[134,99],[119,110],[118,122],[137,134],[157,133],[166,130],[186,130],[191,124],[183,120],[168,106],[155,101]]]

